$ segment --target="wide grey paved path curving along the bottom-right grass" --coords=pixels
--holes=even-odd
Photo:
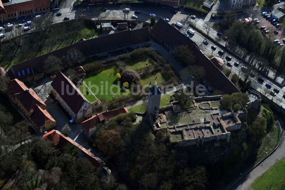
[[[252,189],[251,183],[257,179],[260,175],[262,175],[266,170],[268,170],[272,165],[274,165],[277,161],[281,159],[285,159],[285,124],[280,116],[278,116],[278,121],[281,124],[282,128],[282,137],[279,147],[273,152],[269,157],[267,157],[262,163],[260,163],[257,167],[255,167],[250,173],[248,173],[245,177],[239,180],[231,189],[243,189],[248,190]]]

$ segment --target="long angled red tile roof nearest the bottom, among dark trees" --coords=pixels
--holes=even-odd
[[[64,150],[64,147],[67,144],[72,144],[76,147],[78,147],[82,152],[82,155],[84,157],[86,157],[87,159],[89,159],[89,161],[91,161],[91,163],[95,166],[95,167],[102,167],[105,165],[105,163],[98,157],[96,157],[94,154],[92,154],[90,151],[88,151],[86,148],[84,148],[83,146],[81,146],[80,144],[78,144],[77,142],[75,142],[74,140],[72,140],[69,137],[64,136],[62,133],[60,133],[57,130],[51,130],[50,132],[48,132],[47,134],[44,134],[42,136],[42,139],[47,138],[48,140],[50,140],[52,142],[52,145],[56,145],[58,149],[60,150]]]

